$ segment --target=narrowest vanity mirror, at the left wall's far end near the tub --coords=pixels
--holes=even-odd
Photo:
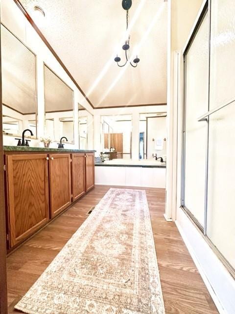
[[[78,136],[79,149],[86,150],[93,147],[94,116],[80,104],[78,104]]]

